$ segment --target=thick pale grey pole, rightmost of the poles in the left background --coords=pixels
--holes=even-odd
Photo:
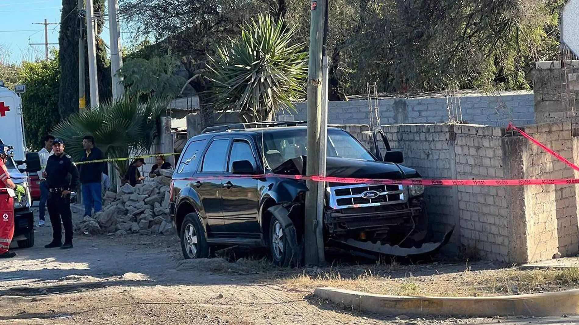
[[[109,34],[111,36],[111,73],[112,98],[118,98],[124,93],[122,78],[116,73],[123,67],[123,56],[120,53],[120,30],[116,12],[119,10],[118,0],[108,0]]]

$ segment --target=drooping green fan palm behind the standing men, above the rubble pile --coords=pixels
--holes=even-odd
[[[167,108],[168,98],[149,98],[140,104],[136,97],[120,97],[75,114],[59,123],[54,136],[64,140],[66,152],[78,161],[83,154],[82,138],[94,136],[96,145],[107,158],[125,158],[148,152],[159,134],[159,118]],[[123,176],[130,161],[113,161]]]

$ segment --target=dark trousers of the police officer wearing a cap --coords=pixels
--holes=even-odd
[[[62,242],[64,225],[64,242],[72,243],[72,212],[71,196],[61,196],[61,191],[50,192],[48,194],[48,215],[52,224],[52,239],[54,242]]]

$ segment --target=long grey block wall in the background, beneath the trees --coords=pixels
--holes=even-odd
[[[461,95],[463,121],[474,124],[506,126],[507,117],[497,113],[499,103],[507,106],[516,125],[533,124],[534,101],[532,91],[501,92],[497,97],[480,93]],[[380,99],[380,121],[386,124],[416,124],[448,122],[446,97],[391,98]],[[306,103],[296,104],[296,112],[285,112],[279,119],[306,120]],[[352,100],[329,102],[328,123],[369,124],[368,101]]]

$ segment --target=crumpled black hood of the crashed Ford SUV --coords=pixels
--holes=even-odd
[[[306,156],[291,158],[272,172],[281,175],[306,175]],[[406,179],[418,178],[415,169],[392,162],[366,161],[338,157],[326,158],[326,175],[334,177]]]

